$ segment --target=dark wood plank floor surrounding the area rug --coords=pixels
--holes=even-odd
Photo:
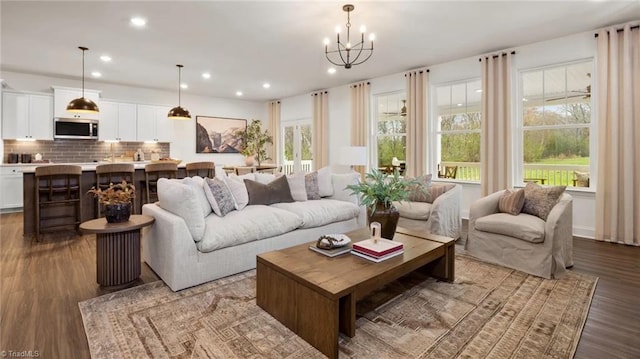
[[[598,276],[575,358],[640,358],[640,247],[574,240],[574,271]],[[139,283],[157,280],[143,265]],[[96,284],[93,235],[22,237],[22,214],[0,215],[0,351],[88,358],[78,302]]]

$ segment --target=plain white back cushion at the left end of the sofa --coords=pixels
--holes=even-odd
[[[204,194],[204,190],[200,187]],[[196,242],[202,240],[204,235],[204,217],[202,207],[199,204],[196,187],[181,180],[160,178],[158,180],[158,206],[182,217],[189,228],[191,237]],[[211,217],[211,216],[209,216]]]

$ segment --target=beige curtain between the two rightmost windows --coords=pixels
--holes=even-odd
[[[480,58],[482,65],[480,139],[482,196],[513,185],[511,61],[512,53]]]

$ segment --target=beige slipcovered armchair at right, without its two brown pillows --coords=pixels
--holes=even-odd
[[[572,197],[562,193],[542,219],[528,213],[501,213],[504,193],[498,191],[471,205],[467,253],[536,276],[562,277],[565,268],[573,266]]]

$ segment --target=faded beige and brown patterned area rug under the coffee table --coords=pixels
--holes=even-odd
[[[597,278],[546,280],[456,256],[454,283],[412,274],[358,304],[340,358],[572,358]],[[79,303],[93,358],[323,358],[255,302],[255,270]],[[274,288],[277,290],[277,288]]]

